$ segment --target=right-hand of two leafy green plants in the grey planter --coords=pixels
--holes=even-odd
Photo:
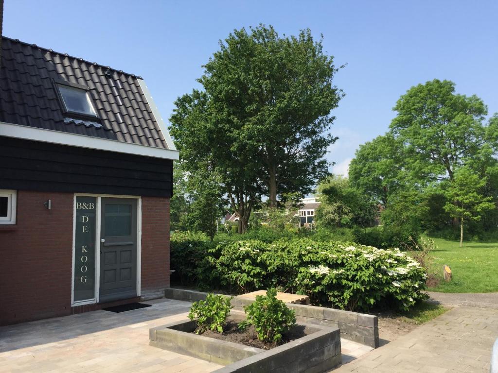
[[[260,341],[279,342],[282,334],[296,323],[296,315],[276,295],[276,289],[268,289],[266,295],[257,295],[254,302],[245,306],[246,320],[239,324],[239,329],[254,325]]]

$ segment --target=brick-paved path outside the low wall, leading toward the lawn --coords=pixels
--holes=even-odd
[[[489,373],[497,337],[498,310],[457,307],[333,372]]]

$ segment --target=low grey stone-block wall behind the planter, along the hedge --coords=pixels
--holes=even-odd
[[[166,298],[189,302],[205,300],[207,294],[202,291],[173,287],[168,287],[164,292]],[[244,311],[243,307],[252,303],[252,301],[236,296],[231,303],[234,310]],[[303,304],[286,303],[286,305],[296,312],[296,321],[298,323],[339,328],[341,338],[373,348],[379,347],[378,317],[375,315]]]

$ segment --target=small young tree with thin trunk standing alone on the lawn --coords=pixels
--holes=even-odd
[[[445,193],[448,202],[444,209],[451,216],[460,219],[460,247],[464,239],[464,223],[467,220],[480,220],[486,210],[495,208],[492,197],[482,194],[486,179],[468,167],[461,167],[454,172],[453,183],[449,183]]]

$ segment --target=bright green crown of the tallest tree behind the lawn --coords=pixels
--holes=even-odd
[[[403,165],[419,183],[453,180],[458,167],[486,162],[497,151],[498,121],[485,125],[483,100],[455,93],[451,81],[412,87],[393,110],[390,131],[405,145]]]

